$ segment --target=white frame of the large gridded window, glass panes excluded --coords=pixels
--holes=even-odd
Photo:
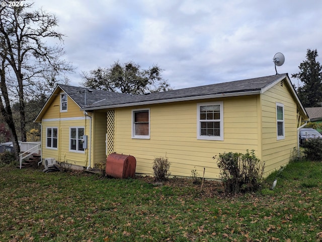
[[[219,122],[220,135],[219,136],[204,136],[201,135],[201,122],[205,122],[204,119],[200,119],[200,107],[208,105],[219,105],[220,106],[220,119],[212,119],[209,122]],[[200,102],[197,103],[197,140],[216,140],[223,141],[223,101],[216,102]]]

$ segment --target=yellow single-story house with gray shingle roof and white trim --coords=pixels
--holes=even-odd
[[[168,157],[173,176],[205,168],[219,178],[219,153],[254,150],[266,174],[288,163],[305,120],[288,75],[277,74],[146,95],[58,85],[35,122],[43,158],[90,168],[116,152],[151,175],[154,158]]]

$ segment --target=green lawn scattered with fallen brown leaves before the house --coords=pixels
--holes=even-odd
[[[322,163],[297,162],[262,192],[206,181],[0,168],[0,241],[322,241]],[[275,190],[269,190],[275,176]]]

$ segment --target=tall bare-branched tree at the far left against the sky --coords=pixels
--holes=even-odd
[[[16,128],[13,126],[11,105],[19,103],[21,140],[26,141],[25,98],[37,92],[40,83],[58,82],[59,74],[72,71],[65,60],[62,45],[49,46],[46,41],[62,43],[63,34],[57,32],[55,15],[32,10],[32,3],[3,1],[0,7],[1,100],[0,110],[8,124],[19,152]],[[53,77],[48,80],[48,73]],[[9,90],[9,91],[8,91]],[[16,153],[18,154],[18,153]]]

